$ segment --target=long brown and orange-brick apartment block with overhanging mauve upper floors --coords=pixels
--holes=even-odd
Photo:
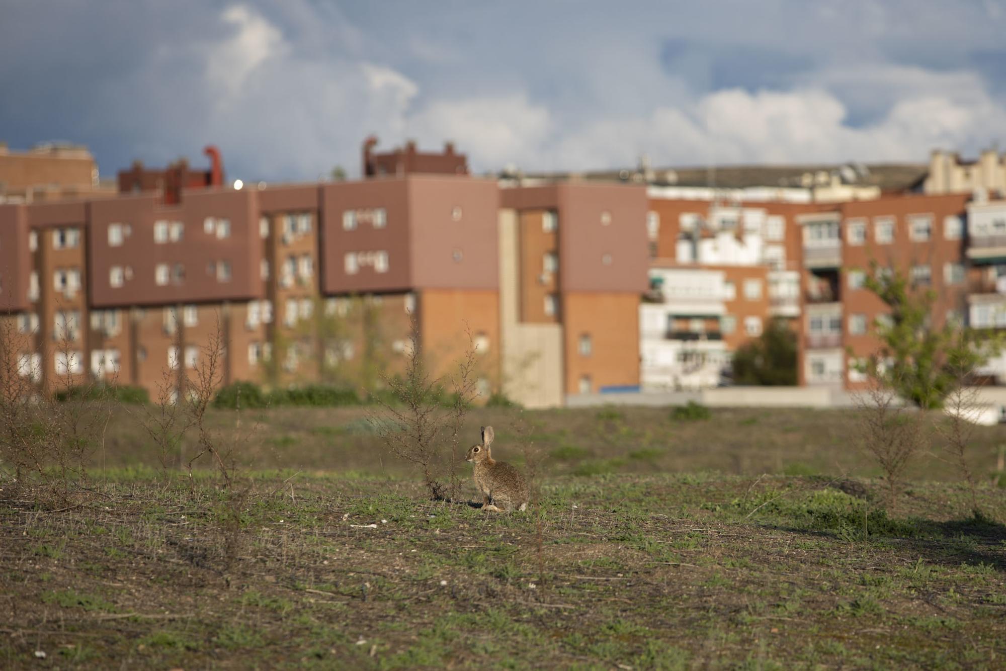
[[[370,388],[403,369],[414,321],[435,375],[472,345],[483,394],[561,404],[638,383],[645,212],[638,187],[455,175],[7,204],[0,300],[21,372],[49,388],[115,378],[183,393],[214,334],[224,383]],[[522,239],[555,259],[522,258]],[[517,308],[528,286],[533,314]]]

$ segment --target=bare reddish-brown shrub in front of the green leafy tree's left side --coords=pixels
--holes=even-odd
[[[883,471],[887,505],[893,509],[904,472],[927,443],[925,412],[906,407],[894,389],[875,376],[853,397],[860,416],[860,447]]]

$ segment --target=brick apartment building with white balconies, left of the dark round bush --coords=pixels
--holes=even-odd
[[[771,320],[786,319],[799,330],[798,218],[828,205],[744,202],[729,193],[710,200],[668,198],[671,192],[663,187],[648,193],[651,293],[641,307],[645,385],[716,383],[732,352],[760,336]],[[689,287],[701,300],[686,307],[680,292]],[[714,317],[718,324],[708,321]]]

